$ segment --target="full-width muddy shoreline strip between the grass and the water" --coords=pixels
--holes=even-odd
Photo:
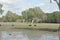
[[[60,32],[60,30],[58,30],[58,29],[48,29],[48,28],[11,28],[11,29],[0,29],[0,31],[9,31],[9,30],[11,30],[11,31],[16,31],[16,30],[34,30],[34,31],[37,31],[37,30],[39,30],[39,31],[48,31],[48,32]]]

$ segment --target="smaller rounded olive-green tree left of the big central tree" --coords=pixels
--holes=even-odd
[[[3,21],[5,22],[15,22],[19,16],[16,13],[12,13],[11,11],[8,11],[5,16],[3,16]]]

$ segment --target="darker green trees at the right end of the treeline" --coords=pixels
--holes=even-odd
[[[60,12],[47,13],[47,22],[60,23]]]

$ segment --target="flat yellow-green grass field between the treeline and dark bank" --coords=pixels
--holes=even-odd
[[[53,23],[37,23],[37,24],[31,24],[31,23],[20,23],[20,22],[0,22],[3,26],[0,26],[0,30],[5,29],[12,29],[12,28],[48,28],[48,29],[58,29],[60,24],[53,24]],[[11,26],[11,25],[15,26]],[[35,25],[35,26],[34,26]]]

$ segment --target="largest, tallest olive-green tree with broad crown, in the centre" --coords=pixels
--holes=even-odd
[[[42,21],[45,20],[45,14],[40,9],[40,7],[35,8],[29,8],[28,10],[25,10],[22,12],[22,16],[26,21],[31,21],[37,19],[42,19]]]

